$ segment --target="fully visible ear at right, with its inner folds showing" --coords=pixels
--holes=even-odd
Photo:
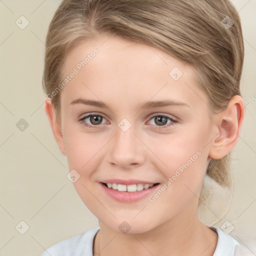
[[[239,138],[243,118],[243,100],[241,96],[235,95],[228,101],[226,108],[216,114],[214,125],[218,135],[211,143],[210,158],[220,159],[233,149]]]

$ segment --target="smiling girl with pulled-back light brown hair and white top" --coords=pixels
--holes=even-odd
[[[99,227],[42,256],[250,255],[198,218],[205,177],[232,187],[243,56],[228,0],[63,0],[46,38],[45,112]]]

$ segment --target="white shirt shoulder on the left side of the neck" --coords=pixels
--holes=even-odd
[[[60,241],[48,249],[41,256],[73,256],[73,255],[92,255],[93,239],[99,227],[85,231]]]

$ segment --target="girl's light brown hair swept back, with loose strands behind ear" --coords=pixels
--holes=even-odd
[[[244,45],[240,17],[229,0],[63,0],[46,36],[42,76],[46,94],[63,80],[66,54],[102,33],[157,47],[194,66],[196,81],[214,113],[240,95]],[[58,119],[60,92],[51,98]],[[232,194],[229,153],[210,159],[206,175]],[[198,206],[207,200],[201,189]]]

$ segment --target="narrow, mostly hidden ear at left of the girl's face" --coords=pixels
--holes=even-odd
[[[63,135],[61,132],[61,127],[59,125],[59,122],[56,118],[55,110],[53,108],[53,105],[51,104],[51,100],[49,98],[45,98],[44,100],[44,110],[48,117],[50,127],[53,133],[53,136],[58,144],[58,147],[63,155],[66,155],[65,146],[64,146],[64,140]]]

